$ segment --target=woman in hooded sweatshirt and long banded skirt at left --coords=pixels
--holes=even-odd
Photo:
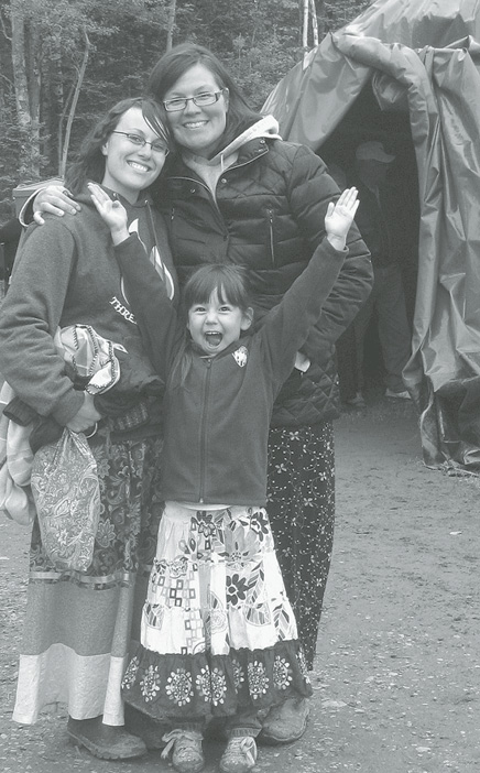
[[[13,719],[33,723],[44,706],[65,703],[70,739],[110,760],[146,752],[140,738],[124,731],[120,686],[162,510],[163,384],[143,350],[110,230],[88,184],[100,183],[123,204],[130,231],[173,297],[164,222],[149,194],[171,145],[162,116],[152,99],[126,99],[97,123],[65,181],[81,211],[46,216],[43,227],[28,229],[0,318],[1,373],[30,411],[37,445],[64,427],[85,433],[100,488],[100,520],[85,571],[55,564],[34,522]],[[112,344],[120,378],[109,391],[94,398],[85,382],[72,380],[54,344],[57,328],[69,326],[86,326],[95,341]]]

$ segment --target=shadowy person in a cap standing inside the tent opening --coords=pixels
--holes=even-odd
[[[395,257],[392,237],[395,215],[389,200],[386,176],[395,156],[386,153],[382,142],[372,140],[358,145],[354,155],[353,184],[359,189],[360,207],[356,221],[368,246],[373,265],[373,290],[356,316],[352,327],[357,352],[359,395],[363,386],[366,334],[374,313],[378,318],[380,347],[385,368],[385,396],[410,400],[402,371],[412,351],[412,334],[406,314],[402,271]]]

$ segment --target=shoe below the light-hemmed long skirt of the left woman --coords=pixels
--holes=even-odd
[[[101,717],[72,719],[68,717],[67,733],[72,743],[85,747],[100,760],[130,760],[146,754],[140,738],[131,736],[122,727],[103,725]]]

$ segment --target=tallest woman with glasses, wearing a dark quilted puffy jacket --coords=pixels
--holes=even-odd
[[[338,186],[313,151],[281,140],[275,119],[253,111],[203,46],[183,43],[164,54],[148,92],[165,107],[176,143],[156,202],[166,215],[181,284],[205,262],[243,265],[251,271],[261,316],[280,302],[323,241]],[[75,210],[58,190],[39,198],[43,209]],[[320,318],[276,399],[269,443],[269,515],[308,668],[334,538],[335,341],[372,285],[370,253],[354,224],[347,247]],[[287,698],[265,717],[261,739],[301,738],[308,710],[307,699]]]

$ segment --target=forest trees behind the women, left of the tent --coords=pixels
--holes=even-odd
[[[160,56],[211,48],[260,109],[277,81],[371,0],[0,0],[0,222],[12,189],[57,176],[96,118]]]

